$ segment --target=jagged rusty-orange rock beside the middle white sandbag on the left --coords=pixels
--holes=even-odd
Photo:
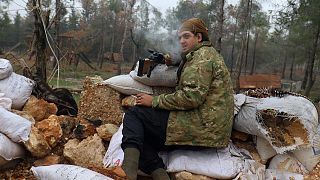
[[[62,137],[62,129],[56,115],[51,115],[48,119],[36,123],[35,126],[51,148],[55,147]]]

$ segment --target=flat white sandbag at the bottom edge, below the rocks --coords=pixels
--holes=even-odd
[[[45,180],[112,180],[90,169],[67,164],[31,167],[31,171],[37,179]]]

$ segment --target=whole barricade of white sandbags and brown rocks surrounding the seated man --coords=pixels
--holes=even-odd
[[[79,114],[69,117],[55,115],[53,103],[30,96],[33,82],[14,74],[10,66],[0,61],[0,168],[30,153],[38,159],[33,164],[38,167],[31,171],[39,179],[107,179],[102,175],[108,174],[106,167],[120,166],[123,161],[122,107],[133,106],[131,95],[137,93],[172,92],[177,70],[158,65],[150,78],[137,76],[137,68],[105,81],[86,78]],[[21,88],[15,92],[13,87]],[[221,149],[161,152],[167,171],[176,179],[302,179],[316,166],[320,129],[317,111],[308,99],[234,97],[234,131],[253,137],[260,159],[236,142]],[[249,141],[246,137],[242,143]]]

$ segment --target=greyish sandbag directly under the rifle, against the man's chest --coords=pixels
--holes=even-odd
[[[167,66],[165,64],[158,64],[151,72],[150,77],[147,75],[137,76],[139,62],[137,62],[136,68],[130,72],[130,76],[148,86],[164,86],[175,87],[177,83],[177,66]]]

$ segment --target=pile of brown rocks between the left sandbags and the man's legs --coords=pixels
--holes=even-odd
[[[3,128],[0,128],[0,137],[5,142],[10,142],[10,146],[7,145],[7,147],[12,153],[15,153],[10,154],[12,157],[7,157],[5,156],[7,154],[1,153],[4,150],[0,148],[0,167],[4,172],[0,173],[1,179],[26,178],[23,177],[25,173],[21,171],[8,173],[8,171],[14,172],[15,169],[19,169],[17,168],[19,164],[9,166],[14,159],[26,156],[29,157],[26,157],[20,164],[28,160],[29,163],[25,164],[29,166],[29,170],[30,165],[47,166],[63,163],[101,169],[105,174],[109,173],[109,170],[104,169],[102,162],[108,142],[122,121],[123,111],[120,105],[120,94],[108,86],[96,82],[95,78],[87,78],[84,88],[77,117],[57,116],[55,104],[37,99],[34,96],[30,96],[21,110],[0,109],[1,114],[10,115],[7,115],[8,118],[1,116],[0,121],[10,124],[12,132],[20,132],[18,128],[24,127],[20,134],[15,133],[15,137],[8,135],[11,132],[1,130],[6,129],[1,123],[0,127]],[[12,121],[11,116],[16,120]],[[23,134],[25,137],[19,138]],[[4,144],[0,144],[0,147],[4,147]],[[13,151],[13,147],[15,151]],[[34,168],[35,170],[37,169]]]

